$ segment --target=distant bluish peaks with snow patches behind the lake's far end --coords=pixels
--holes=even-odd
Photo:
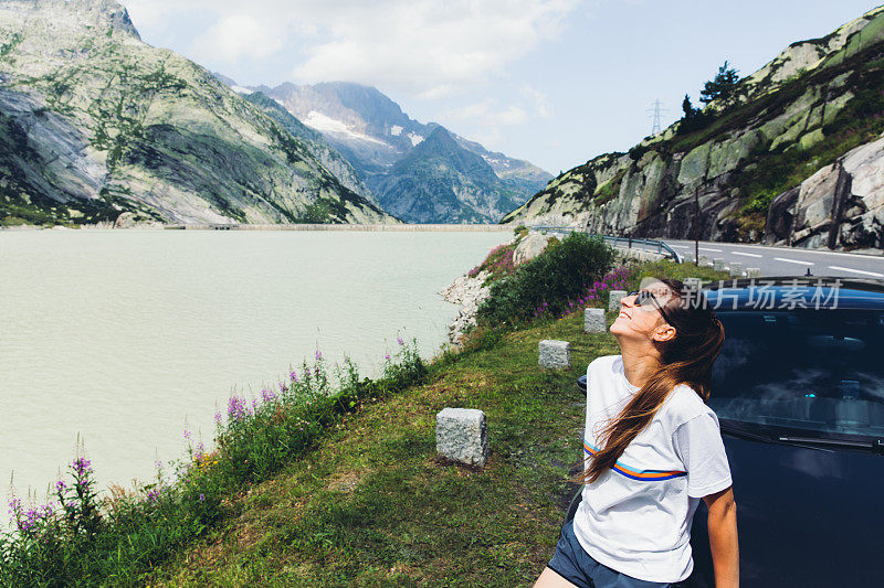
[[[246,88],[215,75],[244,96],[272,98],[322,133],[356,169],[377,202],[406,222],[496,222],[552,178],[441,125],[410,118],[372,87],[329,82]],[[431,145],[421,147],[431,138]]]

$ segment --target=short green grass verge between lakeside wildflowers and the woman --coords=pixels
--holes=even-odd
[[[436,362],[431,384],[367,407],[302,461],[234,498],[235,514],[156,570],[154,584],[529,585],[576,488],[567,478],[581,459],[585,398],[575,381],[592,359],[619,353],[610,333],[582,332],[581,314]],[[571,370],[537,367],[543,339],[571,342]],[[486,413],[484,469],[436,459],[434,415],[446,406]]]

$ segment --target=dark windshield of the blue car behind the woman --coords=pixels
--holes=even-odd
[[[709,406],[720,419],[884,437],[884,312],[719,311]]]

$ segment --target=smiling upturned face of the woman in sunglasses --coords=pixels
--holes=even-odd
[[[672,302],[674,293],[662,281],[642,282],[640,292],[649,291],[665,310]],[[654,300],[646,298],[636,303],[639,295],[627,296],[620,300],[618,314],[610,331],[620,341],[620,345],[648,344],[651,341],[669,341],[675,336],[675,328],[666,322]]]

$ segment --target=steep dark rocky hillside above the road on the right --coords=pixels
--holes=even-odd
[[[736,104],[713,101],[702,120],[555,178],[504,222],[884,247],[884,8],[793,43],[740,82]]]

